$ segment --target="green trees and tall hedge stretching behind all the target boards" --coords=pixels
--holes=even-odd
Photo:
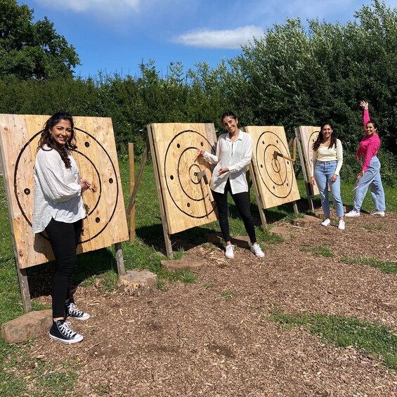
[[[73,77],[79,58],[51,22],[32,22],[16,0],[0,0],[0,11],[1,113],[112,117],[119,155],[134,142],[137,159],[153,122],[214,122],[221,133],[220,115],[233,110],[242,126],[282,125],[291,138],[294,126],[330,121],[344,145],[342,177],[354,178],[363,99],[380,125],[382,176],[397,182],[397,10],[383,1],[345,25],[288,19],[216,67],[171,63],[163,73],[149,60],[134,76],[89,78]]]

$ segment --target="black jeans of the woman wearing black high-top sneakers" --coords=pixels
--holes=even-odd
[[[82,233],[83,221],[65,223],[51,219],[47,235],[56,259],[53,274],[53,318],[65,317],[65,301],[70,299],[70,280],[76,264],[76,249]]]

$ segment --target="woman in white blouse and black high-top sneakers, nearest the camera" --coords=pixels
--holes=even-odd
[[[70,329],[66,318],[88,320],[70,295],[70,281],[76,263],[76,249],[86,217],[82,193],[90,188],[80,178],[77,163],[70,154],[75,150],[72,116],[58,112],[50,117],[41,132],[34,164],[34,233],[44,230],[51,242],[56,266],[52,280],[53,325],[50,337],[63,343],[82,341],[82,335]]]

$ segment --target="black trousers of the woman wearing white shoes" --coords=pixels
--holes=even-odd
[[[235,205],[240,212],[240,216],[242,217],[242,221],[244,222],[245,230],[247,230],[249,240],[251,242],[256,242],[254,220],[252,219],[251,211],[249,211],[248,193],[242,192],[235,193],[235,195],[233,195],[230,188],[229,179],[226,182],[225,190],[223,193],[217,193],[212,190],[216,202],[216,207],[218,207],[219,226],[221,226],[223,240],[225,240],[226,242],[230,241],[228,221],[228,192],[230,192],[230,195],[232,196],[233,201],[235,202]]]

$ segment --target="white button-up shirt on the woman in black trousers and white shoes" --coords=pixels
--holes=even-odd
[[[216,154],[205,152],[203,157],[207,162],[216,164],[210,184],[212,190],[224,193],[229,178],[233,194],[248,191],[245,168],[252,159],[252,138],[249,134],[239,130],[234,142],[230,141],[229,133],[222,134],[216,143]],[[221,168],[228,168],[229,172],[218,176]]]

